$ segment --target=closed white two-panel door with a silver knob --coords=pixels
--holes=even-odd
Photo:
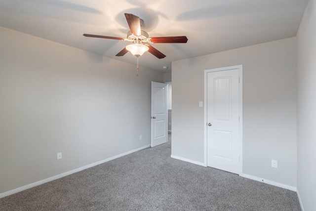
[[[238,69],[207,73],[207,166],[239,173]]]

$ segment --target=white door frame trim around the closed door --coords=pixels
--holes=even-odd
[[[207,73],[238,69],[239,73],[239,176],[242,176],[242,65],[204,70],[204,166],[207,167]]]

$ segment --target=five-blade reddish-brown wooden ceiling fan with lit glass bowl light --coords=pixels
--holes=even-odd
[[[102,35],[90,35],[90,34],[83,34],[83,36],[133,42],[132,44],[127,45],[121,51],[119,51],[116,56],[123,56],[128,51],[130,51],[137,58],[146,51],[150,52],[151,54],[156,56],[158,59],[162,59],[166,57],[166,55],[164,55],[155,47],[150,45],[152,43],[186,43],[188,42],[188,39],[186,36],[149,37],[147,32],[141,30],[141,25],[143,23],[142,19],[130,13],[124,13],[124,14],[125,14],[125,18],[127,20],[127,23],[130,29],[130,31],[127,32],[127,38],[109,37],[109,36],[102,36]]]

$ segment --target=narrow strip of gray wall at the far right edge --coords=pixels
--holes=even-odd
[[[297,191],[305,211],[316,210],[316,1],[297,33]]]

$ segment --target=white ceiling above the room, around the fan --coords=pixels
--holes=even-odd
[[[171,62],[296,36],[308,0],[0,0],[0,26],[136,64],[129,42],[82,34],[126,37],[124,12],[144,20],[150,37],[187,36],[188,43],[152,44],[140,66],[170,72]],[[162,67],[167,66],[167,70]]]

